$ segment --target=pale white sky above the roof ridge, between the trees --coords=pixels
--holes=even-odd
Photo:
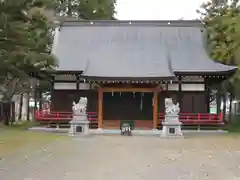
[[[196,19],[196,9],[207,0],[117,0],[118,20]]]

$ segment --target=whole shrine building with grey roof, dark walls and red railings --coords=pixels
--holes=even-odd
[[[164,99],[180,104],[184,123],[222,122],[209,113],[209,86],[232,76],[236,67],[210,59],[200,21],[65,21],[57,29],[53,54],[51,113],[69,121],[72,102],[88,98],[95,128],[156,129]],[[67,115],[68,114],[68,115]],[[38,114],[38,119],[54,121]]]

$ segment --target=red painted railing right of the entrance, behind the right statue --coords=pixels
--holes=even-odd
[[[164,120],[164,113],[158,114],[160,123]],[[223,124],[223,115],[210,113],[180,113],[179,120],[185,125],[214,125]]]

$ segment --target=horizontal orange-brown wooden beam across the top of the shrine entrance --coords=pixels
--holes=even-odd
[[[117,88],[104,87],[103,92],[153,92],[156,88]]]

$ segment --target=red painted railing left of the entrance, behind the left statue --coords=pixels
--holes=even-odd
[[[97,112],[87,112],[89,121],[97,121]],[[36,111],[36,121],[71,121],[72,112]]]

